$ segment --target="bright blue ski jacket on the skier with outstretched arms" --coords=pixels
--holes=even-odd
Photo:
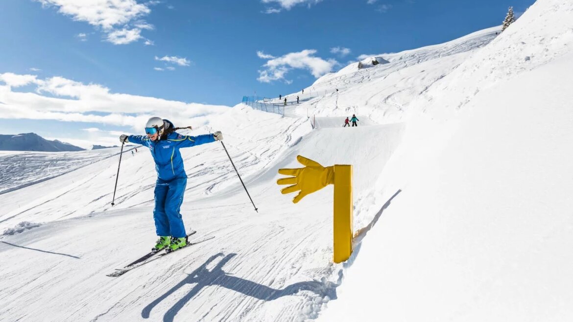
[[[171,126],[173,126],[172,123]],[[166,139],[155,142],[148,138],[147,135],[129,135],[128,140],[131,143],[141,144],[149,148],[155,161],[157,176],[159,179],[166,181],[181,175],[187,176],[185,168],[183,168],[183,158],[181,158],[179,153],[180,148],[215,142],[213,134],[191,136],[181,135],[177,132],[172,132]]]

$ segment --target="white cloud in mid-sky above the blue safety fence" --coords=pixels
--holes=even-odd
[[[301,52],[288,53],[282,57],[273,58],[263,65],[266,69],[259,70],[258,81],[270,83],[271,81],[284,80],[285,74],[291,69],[307,69],[312,76],[319,78],[331,72],[332,68],[339,63],[336,60],[323,60],[314,57],[315,49],[305,49]],[[288,80],[285,80],[288,83]]]

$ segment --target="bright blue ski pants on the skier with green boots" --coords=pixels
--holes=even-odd
[[[187,175],[169,181],[157,178],[155,183],[155,231],[158,236],[185,237],[185,226],[179,210],[187,186]]]

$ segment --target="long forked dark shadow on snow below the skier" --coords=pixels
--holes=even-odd
[[[336,284],[332,282],[318,281],[308,281],[308,282],[298,282],[286,286],[284,289],[274,289],[269,286],[257,284],[256,282],[245,280],[240,277],[230,276],[229,274],[223,272],[222,268],[225,264],[235,257],[237,254],[231,253],[226,256],[223,253],[215,254],[211,256],[203,265],[198,269],[190,273],[184,280],[180,281],[177,285],[173,286],[165,294],[158,297],[155,301],[148,304],[142,311],[142,317],[147,319],[150,316],[152,309],[161,303],[171,294],[177,292],[178,289],[182,288],[186,284],[197,284],[191,289],[185,296],[183,296],[179,301],[177,301],[170,309],[167,310],[163,316],[163,321],[173,321],[175,315],[182,309],[187,302],[189,302],[195,294],[199,293],[205,286],[218,285],[226,289],[234,290],[236,292],[245,294],[247,296],[255,297],[259,300],[272,301],[276,300],[282,296],[293,295],[301,290],[310,290],[320,296],[328,295],[331,299],[336,299]],[[213,269],[208,270],[207,265],[218,257],[223,257],[221,261]]]

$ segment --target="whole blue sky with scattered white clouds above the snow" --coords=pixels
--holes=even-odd
[[[154,105],[208,118],[214,112],[189,103],[300,91],[361,54],[453,40],[533,2],[1,1],[0,132],[111,142]],[[70,100],[99,103],[69,108]]]

